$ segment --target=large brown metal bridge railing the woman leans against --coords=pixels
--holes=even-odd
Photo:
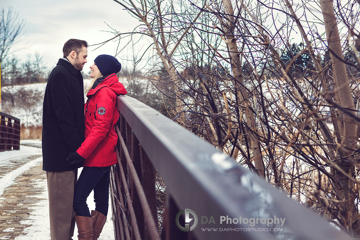
[[[117,240],[351,239],[152,108],[128,96],[118,97],[117,106],[120,149],[111,171]],[[161,236],[155,169],[167,192]]]

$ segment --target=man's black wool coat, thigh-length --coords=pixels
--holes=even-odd
[[[42,170],[73,170],[66,158],[84,141],[84,80],[73,65],[59,59],[46,85],[42,110]]]

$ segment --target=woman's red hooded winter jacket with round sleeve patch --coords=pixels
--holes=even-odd
[[[127,92],[116,74],[106,77],[87,93],[85,103],[85,141],[77,153],[84,157],[84,166],[112,166],[117,163],[115,124],[119,119],[117,95]]]

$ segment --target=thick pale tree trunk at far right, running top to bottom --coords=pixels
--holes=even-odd
[[[351,94],[350,84],[343,62],[344,56],[340,43],[340,36],[334,13],[334,6],[332,0],[319,0],[320,7],[323,12],[325,31],[328,41],[328,49],[332,61],[332,68],[334,72],[334,90],[336,91],[337,103],[341,108],[355,110],[354,101]],[[342,111],[342,109],[339,109]],[[341,139],[341,147],[339,147],[337,161],[338,166],[348,175],[354,175],[354,160],[350,156],[355,149],[357,142],[356,137],[356,121],[353,117],[342,113],[343,115],[343,131]],[[354,203],[354,183],[337,169],[334,171],[339,181],[339,186],[335,186],[337,198],[343,203],[339,203],[339,219],[343,221],[343,226],[355,235],[359,235],[358,213]]]

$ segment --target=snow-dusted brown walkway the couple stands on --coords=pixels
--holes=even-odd
[[[41,142],[24,140],[21,145],[20,151],[0,152],[0,240],[48,240],[49,203]],[[94,209],[92,194],[87,204]],[[76,235],[75,227],[74,240]],[[105,239],[114,239],[111,206],[99,237]]]

